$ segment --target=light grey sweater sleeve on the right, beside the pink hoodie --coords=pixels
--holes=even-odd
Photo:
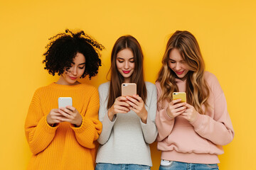
[[[156,103],[157,103],[157,93],[156,93],[156,86],[154,84],[149,84],[149,90],[147,90],[148,98],[146,101],[149,109],[148,109],[148,116],[146,118],[146,123],[142,123],[142,120],[140,120],[141,126],[142,126],[142,132],[144,135],[144,140],[146,143],[151,144],[156,140],[157,136],[157,128],[156,128]]]

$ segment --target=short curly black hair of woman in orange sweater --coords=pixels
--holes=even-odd
[[[82,78],[89,74],[89,79],[91,79],[98,73],[101,66],[99,50],[105,47],[92,40],[84,31],[72,33],[67,29],[65,33],[57,34],[49,40],[52,41],[46,46],[47,51],[43,54],[46,56],[43,60],[43,63],[46,63],[44,69],[47,69],[49,74],[53,76],[55,73],[59,76],[63,74],[71,67],[71,64],[74,64],[73,59],[78,52],[85,56],[85,72]]]

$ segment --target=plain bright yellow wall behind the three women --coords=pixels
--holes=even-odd
[[[189,30],[201,46],[206,70],[223,87],[235,139],[224,146],[220,169],[256,169],[256,2],[228,1],[0,1],[0,169],[26,169],[31,152],[24,121],[34,91],[57,81],[43,69],[48,38],[85,30],[105,45],[99,86],[110,68],[110,52],[121,35],[134,35],[145,55],[146,81],[154,83],[166,42],[175,30]],[[161,153],[151,145],[153,168]]]

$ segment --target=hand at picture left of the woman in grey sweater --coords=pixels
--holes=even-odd
[[[108,117],[112,121],[114,118],[114,115],[117,113],[128,113],[130,105],[126,103],[127,98],[123,96],[119,96],[115,99],[114,104],[111,106],[109,111],[107,112]]]

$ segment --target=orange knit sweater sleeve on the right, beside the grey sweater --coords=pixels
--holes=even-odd
[[[82,125],[75,128],[73,125],[71,128],[75,132],[75,137],[83,147],[95,148],[95,140],[100,135],[102,131],[102,123],[98,120],[98,110],[99,110],[99,94],[97,89],[92,92],[90,97],[85,116],[82,116]]]

